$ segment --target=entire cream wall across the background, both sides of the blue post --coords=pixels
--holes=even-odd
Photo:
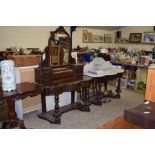
[[[54,31],[56,26],[0,26],[0,51],[16,46],[17,48],[40,48],[43,50],[48,44],[50,31]],[[70,27],[65,27],[69,33]],[[83,43],[83,30],[92,32],[93,35],[112,34],[113,38],[116,31],[101,29],[89,29],[77,27],[73,32],[73,48],[80,47],[99,48],[99,47],[132,47],[139,50],[152,50],[153,45],[142,44],[115,44],[115,43]],[[122,38],[129,37],[130,33],[143,33],[153,31],[153,26],[127,26],[120,29]]]

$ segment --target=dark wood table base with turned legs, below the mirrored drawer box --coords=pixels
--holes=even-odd
[[[39,114],[39,118],[48,120],[51,123],[60,124],[61,123],[61,115],[70,110],[80,110],[80,111],[90,111],[90,103],[89,103],[89,86],[91,79],[87,78],[79,81],[70,81],[64,82],[56,85],[48,85],[44,86],[44,91],[41,95],[42,97],[42,113]],[[82,87],[83,85],[83,87]],[[85,96],[82,101],[75,102],[75,91],[81,93],[81,91],[85,92]],[[59,95],[63,92],[71,92],[71,103],[60,107],[59,106]],[[47,111],[46,108],[46,96],[54,95],[55,96],[55,107],[54,110]],[[54,103],[53,103],[54,104]]]

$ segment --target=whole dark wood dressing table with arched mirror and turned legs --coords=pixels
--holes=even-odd
[[[91,78],[83,80],[83,64],[71,63],[70,37],[64,27],[51,32],[48,46],[45,49],[45,60],[35,69],[35,81],[44,89],[42,98],[42,113],[40,118],[51,123],[60,124],[61,114],[73,109],[90,111],[88,88]],[[83,87],[82,87],[83,85]],[[75,102],[75,92],[85,92],[83,103]],[[71,104],[59,107],[59,95],[71,92]],[[54,110],[47,111],[46,96],[55,97]]]

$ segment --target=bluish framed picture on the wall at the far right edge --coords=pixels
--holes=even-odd
[[[142,37],[143,43],[155,43],[155,33],[154,32],[144,32]]]

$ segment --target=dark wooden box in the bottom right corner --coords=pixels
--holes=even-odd
[[[142,104],[124,111],[124,119],[146,129],[155,129],[155,103]]]

